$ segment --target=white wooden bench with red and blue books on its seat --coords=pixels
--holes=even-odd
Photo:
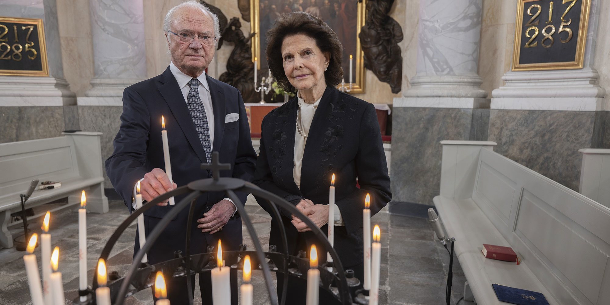
[[[610,209],[493,152],[493,142],[442,141],[434,198],[478,304],[492,284],[544,293],[550,304],[610,304]],[[520,265],[486,259],[511,246]]]

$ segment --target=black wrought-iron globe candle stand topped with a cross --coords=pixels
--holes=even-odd
[[[368,304],[368,301],[364,300],[364,298],[356,298],[356,295],[360,293],[360,290],[356,292],[357,287],[360,285],[360,281],[354,278],[353,270],[343,271],[341,260],[339,259],[335,249],[332,248],[328,242],[326,234],[323,233],[320,228],[318,228],[309,218],[303,215],[300,210],[296,209],[295,206],[285,201],[283,198],[267,192],[266,190],[262,190],[250,182],[237,178],[219,178],[220,170],[229,170],[231,165],[218,163],[218,152],[212,153],[212,163],[204,163],[201,165],[201,168],[211,169],[213,172],[213,178],[190,182],[188,185],[176,188],[176,190],[158,196],[152,201],[144,204],[140,209],[137,209],[131,213],[131,215],[129,215],[129,217],[127,217],[126,220],[120,224],[120,226],[118,226],[117,230],[112,234],[106,243],[106,246],[104,246],[104,249],[102,249],[102,253],[100,254],[99,258],[107,261],[110,251],[112,251],[113,246],[121,234],[123,234],[127,227],[129,227],[137,219],[138,215],[146,212],[146,210],[156,206],[157,203],[160,203],[172,196],[188,194],[179,203],[177,203],[173,209],[170,209],[162,220],[160,220],[159,224],[157,224],[152,232],[146,237],[145,245],[135,254],[133,262],[141,262],[144,254],[152,248],[155,240],[157,240],[162,231],[167,228],[170,221],[176,217],[181,210],[185,209],[186,207],[190,207],[188,223],[186,224],[186,253],[183,255],[181,251],[176,251],[174,253],[174,259],[152,265],[134,263],[131,265],[131,268],[129,268],[129,271],[127,271],[127,274],[122,277],[116,272],[114,272],[114,276],[112,273],[110,273],[110,282],[107,287],[110,288],[110,299],[112,304],[123,305],[127,297],[140,290],[149,289],[152,287],[154,284],[154,275],[157,271],[162,271],[165,278],[181,278],[194,275],[196,273],[209,272],[213,268],[217,267],[216,253],[214,252],[213,246],[207,247],[207,253],[199,254],[191,254],[189,253],[188,249],[190,249],[190,228],[193,219],[193,211],[195,210],[196,199],[204,192],[220,191],[224,191],[226,196],[234,201],[235,207],[237,207],[243,223],[248,229],[255,248],[254,251],[248,251],[245,245],[241,245],[239,251],[223,251],[223,259],[225,260],[226,265],[230,266],[230,268],[243,269],[242,259],[246,255],[249,255],[253,266],[252,270],[263,271],[265,285],[267,287],[270,303],[272,305],[283,305],[285,303],[285,294],[287,292],[289,276],[300,279],[307,278],[309,259],[307,259],[305,256],[304,251],[300,251],[297,256],[293,256],[287,253],[278,253],[276,251],[276,246],[273,245],[269,246],[269,251],[263,251],[256,235],[256,231],[254,230],[252,221],[248,216],[248,212],[246,212],[245,207],[237,195],[235,195],[235,191],[252,193],[259,198],[264,198],[268,201],[268,203],[270,203],[275,217],[281,217],[278,210],[278,207],[281,207],[282,209],[288,210],[293,215],[296,215],[296,217],[300,218],[301,221],[306,223],[307,226],[312,229],[312,232],[314,232],[318,242],[325,246],[326,249],[329,249],[333,259],[332,263],[329,264],[327,262],[326,264],[322,264],[318,267],[318,270],[320,270],[321,289],[331,293],[331,295],[336,298],[337,304],[351,305],[354,304],[354,301],[356,302],[355,304]],[[288,240],[286,232],[284,231],[283,226],[279,227],[281,229],[282,244],[284,249],[287,249]],[[332,272],[330,272],[326,267],[334,268],[332,268]],[[271,279],[272,271],[288,274],[288,276],[284,276],[284,281],[282,282],[284,289],[282,289],[281,302],[278,302],[278,296],[273,288],[273,280]],[[87,296],[87,301],[81,302],[80,298],[77,297],[73,301],[74,304],[96,304],[95,289],[98,288],[97,278],[96,272],[96,274],[93,275],[93,285],[91,289],[79,291],[79,296]],[[188,284],[187,290],[190,304],[192,304],[193,292]]]

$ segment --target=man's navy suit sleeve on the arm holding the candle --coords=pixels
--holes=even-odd
[[[106,159],[106,174],[125,205],[132,211],[134,184],[148,171],[144,167],[150,131],[150,115],[142,97],[131,87],[123,91],[121,127],[114,152]]]

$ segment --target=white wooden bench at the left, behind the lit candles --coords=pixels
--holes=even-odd
[[[108,212],[100,135],[101,132],[74,132],[64,133],[63,137],[0,144],[0,246],[13,246],[7,229],[10,214],[21,210],[19,195],[26,192],[32,179],[59,181],[62,186],[35,191],[26,208],[66,197],[68,205],[60,208],[80,204],[81,191],[85,190],[87,210]]]

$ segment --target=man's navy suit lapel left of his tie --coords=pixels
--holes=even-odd
[[[203,146],[201,146],[197,129],[195,129],[195,124],[193,123],[193,118],[188,111],[187,102],[184,101],[182,91],[180,90],[180,87],[178,87],[176,78],[171,74],[169,66],[165,69],[165,72],[163,72],[161,82],[163,82],[163,85],[159,87],[159,92],[170,107],[171,113],[174,115],[174,118],[176,118],[176,122],[178,122],[182,132],[188,139],[188,143],[190,143],[197,154],[197,157],[201,160],[201,163],[206,162],[206,152],[204,152]]]

